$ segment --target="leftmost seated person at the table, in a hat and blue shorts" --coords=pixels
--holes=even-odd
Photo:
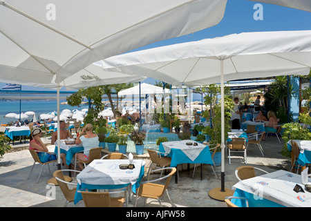
[[[29,137],[30,137],[29,149],[37,151],[38,157],[41,160],[41,162],[45,163],[57,159],[54,153],[48,153],[48,148],[46,147],[46,144],[42,142],[41,128],[34,128]]]

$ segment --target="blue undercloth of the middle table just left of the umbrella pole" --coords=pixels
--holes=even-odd
[[[159,146],[159,151],[165,153],[162,143]],[[211,160],[211,152],[209,152],[209,146],[206,146],[196,157],[196,160],[192,161],[182,152],[182,150],[177,148],[171,148],[171,153],[167,155],[171,157],[171,167],[176,167],[178,164],[211,164],[214,165],[213,160]]]

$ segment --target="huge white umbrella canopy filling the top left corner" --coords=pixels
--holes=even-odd
[[[226,3],[0,1],[0,80],[61,83],[100,59],[214,26]]]

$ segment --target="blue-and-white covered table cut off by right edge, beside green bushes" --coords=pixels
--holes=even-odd
[[[305,164],[311,164],[311,140],[293,140],[299,146],[299,157],[297,162],[305,167]],[[288,151],[292,151],[291,140],[287,142]],[[294,155],[292,155],[292,160]],[[303,168],[304,169],[304,168]],[[303,170],[302,169],[302,170]]]

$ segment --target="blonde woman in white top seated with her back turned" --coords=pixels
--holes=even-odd
[[[82,136],[84,135],[84,136]],[[77,159],[87,162],[89,157],[89,152],[91,148],[96,148],[100,146],[100,140],[98,140],[98,137],[95,133],[93,133],[93,125],[92,124],[86,124],[84,128],[82,129],[82,132],[77,137],[77,140],[75,140],[75,144],[81,144],[84,148],[84,153],[76,153]],[[82,164],[78,164],[80,169]],[[82,168],[83,169],[83,168]]]

